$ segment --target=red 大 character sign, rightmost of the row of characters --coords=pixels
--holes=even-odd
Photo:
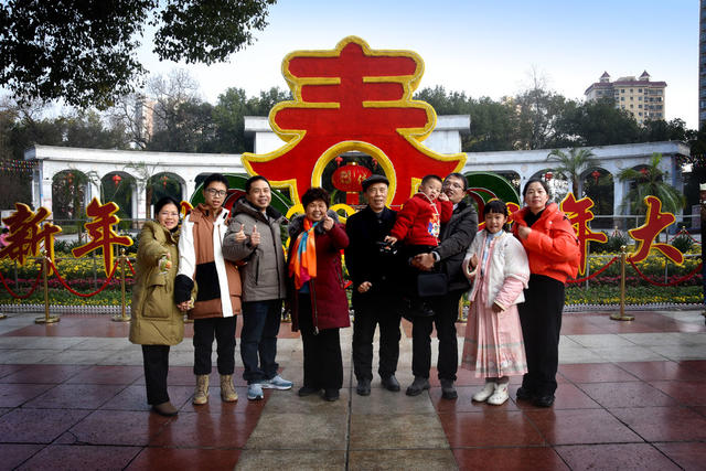
[[[684,263],[684,254],[680,249],[668,244],[654,243],[657,235],[676,221],[674,214],[662,213],[662,202],[656,196],[645,196],[644,204],[648,206],[644,224],[628,231],[630,237],[638,243],[635,251],[630,255],[630,260],[633,263],[642,261],[650,255],[650,249],[654,248],[676,265],[682,265]]]

